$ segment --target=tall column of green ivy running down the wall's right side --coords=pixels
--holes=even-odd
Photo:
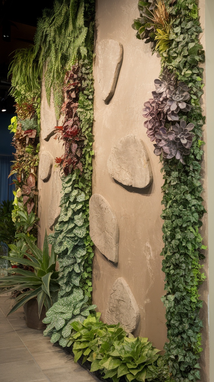
[[[163,16],[163,13],[159,12],[161,6],[162,10],[165,9],[165,15],[167,13],[169,30],[167,44],[165,40],[165,43],[162,44],[163,49],[160,51],[161,44],[157,46],[157,32],[160,34],[161,30],[161,23],[159,23]],[[199,317],[203,302],[200,299],[198,287],[205,278],[204,274],[200,272],[203,267],[200,261],[204,258],[201,249],[206,249],[202,245],[199,232],[202,225],[201,218],[206,211],[202,204],[203,187],[200,181],[203,156],[201,146],[204,144],[201,137],[205,117],[200,106],[204,86],[203,68],[200,63],[204,61],[204,52],[198,37],[202,32],[198,18],[198,3],[196,0],[154,0],[152,2],[149,0],[148,2],[139,1],[138,8],[141,17],[134,22],[137,37],[145,39],[145,42],[152,42],[153,50],[157,50],[161,55],[162,69],[160,80],[155,80],[156,85],[159,81],[159,86],[162,86],[163,76],[166,76],[167,71],[174,76],[173,81],[177,81],[179,84],[185,83],[185,90],[189,92],[189,96],[186,95],[188,107],[185,112],[182,112],[182,109],[179,112],[177,109],[178,117],[175,114],[172,115],[172,118],[168,117],[165,130],[162,129],[163,134],[165,131],[169,131],[169,133],[166,132],[168,135],[165,135],[165,138],[163,135],[161,136],[162,133],[159,134],[154,129],[152,137],[151,123],[149,128],[151,141],[156,139],[155,150],[158,149],[160,142],[164,144],[163,139],[166,143],[161,150],[154,151],[156,155],[161,155],[163,165],[161,171],[165,180],[162,187],[164,210],[161,217],[164,220],[164,248],[161,255],[164,257],[162,264],[166,275],[166,295],[163,296],[162,301],[166,308],[169,342],[164,345],[166,351],[164,360],[169,368],[169,380],[196,382],[200,380],[198,358],[203,350],[201,347],[203,324]],[[159,19],[156,17],[157,15],[160,16]],[[162,25],[164,24],[162,23]],[[193,132],[188,133],[191,144],[186,147],[189,147],[189,151],[183,151],[185,156],[180,160],[177,160],[180,154],[177,159],[172,157],[169,142],[177,131],[175,126],[171,126],[173,118],[177,118],[177,120],[182,118],[185,124],[191,125],[189,130],[192,129]]]

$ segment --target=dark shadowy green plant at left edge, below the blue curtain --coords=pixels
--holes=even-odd
[[[9,245],[13,243],[15,226],[12,220],[13,201],[4,200],[0,204],[0,242]]]

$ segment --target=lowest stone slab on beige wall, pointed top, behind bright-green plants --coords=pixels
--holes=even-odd
[[[140,320],[140,311],[124,278],[119,277],[115,281],[105,314],[105,321],[108,325],[120,322],[126,332],[131,333],[137,329]]]

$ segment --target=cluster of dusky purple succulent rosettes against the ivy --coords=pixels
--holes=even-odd
[[[179,125],[178,113],[191,109],[186,102],[190,99],[189,88],[184,82],[177,84],[174,75],[167,70],[160,79],[154,80],[154,85],[153,99],[145,102],[143,109],[143,117],[148,118],[144,122],[146,133],[152,142],[156,141],[154,154],[162,154],[167,159],[175,157],[184,163],[183,155],[190,154],[194,137],[190,131],[194,125],[187,125],[184,120],[180,120]],[[176,122],[174,126],[171,125],[173,121]]]

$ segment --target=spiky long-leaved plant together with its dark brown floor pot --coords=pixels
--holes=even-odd
[[[56,254],[52,246],[51,255],[49,255],[48,236],[45,231],[43,251],[41,251],[30,238],[24,236],[28,251],[31,253],[19,251],[21,257],[2,256],[10,261],[27,265],[34,269],[34,272],[24,269],[8,269],[11,275],[0,278],[0,294],[5,292],[19,291],[14,299],[13,308],[8,313],[15,312],[24,305],[26,315],[26,324],[33,329],[42,329],[44,327],[42,319],[45,312],[57,301],[60,285],[58,283],[59,272],[56,272]]]

